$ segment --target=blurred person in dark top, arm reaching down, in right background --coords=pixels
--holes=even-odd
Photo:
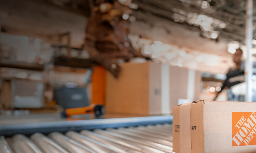
[[[243,57],[243,51],[240,48],[236,49],[236,52],[233,54],[233,62],[236,65],[228,70],[228,73],[226,74],[227,78],[223,82],[221,90],[217,93],[213,101],[216,100],[219,93],[221,93],[226,87],[230,88],[234,85],[244,82],[244,68],[245,68],[244,65],[245,64],[244,64],[244,61],[242,61],[242,57]],[[230,96],[228,97],[230,99]]]

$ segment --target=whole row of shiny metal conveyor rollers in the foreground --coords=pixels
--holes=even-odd
[[[0,137],[0,153],[171,153],[172,125],[16,134],[8,142]]]

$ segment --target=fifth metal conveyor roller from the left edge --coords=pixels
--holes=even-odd
[[[83,146],[95,151],[96,153],[119,153],[102,143],[99,143],[91,138],[88,138],[74,131],[67,132],[66,136],[82,144]]]

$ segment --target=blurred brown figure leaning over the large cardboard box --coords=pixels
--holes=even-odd
[[[131,0],[91,0],[94,7],[86,27],[85,49],[90,59],[118,77],[119,63],[144,57],[128,39]]]

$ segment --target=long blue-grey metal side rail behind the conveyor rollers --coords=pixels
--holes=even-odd
[[[114,117],[114,116],[112,116]],[[172,116],[148,116],[148,117],[125,117],[125,118],[102,118],[102,119],[62,119],[59,116],[52,116],[45,121],[45,116],[26,117],[11,120],[3,119],[0,116],[0,136],[10,137],[15,134],[32,135],[34,133],[49,134],[51,132],[65,133],[68,131],[81,131],[84,129],[105,129],[128,126],[145,126],[156,124],[172,124]],[[31,122],[33,121],[33,122]],[[2,123],[3,122],[3,123]],[[4,124],[4,123],[12,124]],[[22,123],[23,122],[23,123]],[[153,135],[153,134],[152,134]]]

